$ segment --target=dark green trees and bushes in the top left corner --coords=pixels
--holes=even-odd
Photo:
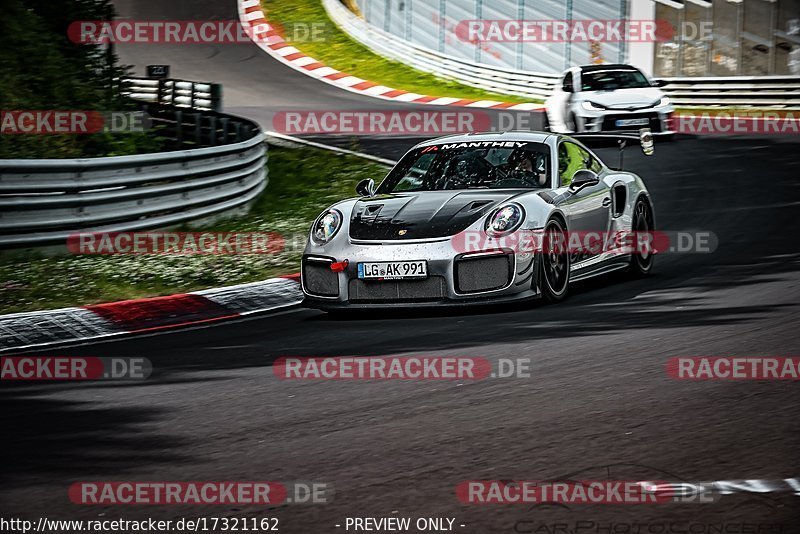
[[[0,17],[0,110],[121,111],[137,109],[121,95],[128,67],[105,46],[73,43],[70,24],[112,20],[109,0],[5,0]],[[73,158],[161,150],[142,133],[0,135],[0,158]]]

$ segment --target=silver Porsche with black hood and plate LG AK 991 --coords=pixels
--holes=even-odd
[[[651,153],[649,132],[642,140]],[[558,301],[571,282],[653,265],[651,250],[608,238],[653,230],[642,179],[566,135],[433,139],[379,186],[364,180],[356,191],[360,198],[334,204],[311,228],[301,270],[309,307]],[[570,247],[573,235],[594,236],[594,246]]]

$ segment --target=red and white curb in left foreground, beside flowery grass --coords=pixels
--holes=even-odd
[[[0,316],[0,352],[196,325],[294,306],[299,275],[165,297]]]

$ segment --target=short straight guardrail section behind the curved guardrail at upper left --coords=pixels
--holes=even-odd
[[[125,78],[125,96],[142,102],[222,111],[222,85],[173,78]]]

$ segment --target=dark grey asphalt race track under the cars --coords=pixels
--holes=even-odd
[[[186,20],[233,17],[228,4],[119,6],[133,18]],[[300,78],[254,46],[121,53],[137,64],[168,59],[175,76],[218,79],[231,112],[253,98],[264,117],[306,102],[397,105]],[[389,156],[409,143],[369,141]],[[797,138],[777,137],[681,139],[657,145],[652,158],[628,151],[626,167],[646,177],[659,228],[711,231],[719,247],[663,255],[644,280],[580,284],[556,306],[350,319],[291,310],[59,350],[145,356],[155,371],[145,382],[5,385],[1,515],[272,516],[286,533],[342,531],[335,525],[353,516],[454,517],[456,530],[475,533],[559,532],[558,524],[686,532],[683,523],[653,528],[670,521],[800,532],[800,496],[788,492],[571,509],[466,506],[454,493],[473,479],[800,476],[797,383],[683,382],[664,371],[673,356],[798,354],[798,154]],[[278,380],[271,367],[280,356],[398,354],[530,358],[532,375],[302,382]],[[76,480],[315,480],[333,483],[336,495],[270,510],[79,507],[66,497]],[[576,521],[588,523],[576,530]],[[612,523],[618,530],[603,530]]]

